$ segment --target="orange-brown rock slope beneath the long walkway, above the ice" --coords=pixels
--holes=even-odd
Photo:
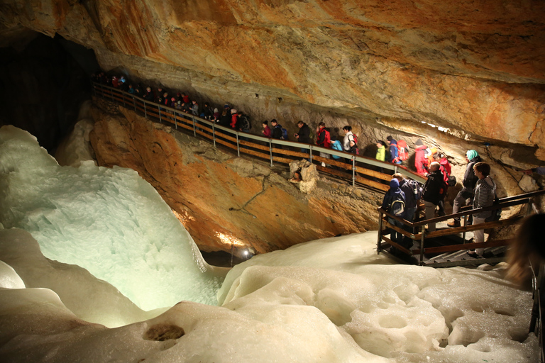
[[[110,104],[110,111],[115,108]],[[321,179],[304,194],[289,169],[214,149],[132,111],[92,108],[99,165],[130,167],[163,196],[203,251],[270,252],[376,229],[382,195]]]

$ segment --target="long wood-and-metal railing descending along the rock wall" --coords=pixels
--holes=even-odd
[[[243,152],[254,157],[267,159],[270,161],[271,167],[274,162],[290,164],[294,160],[307,159],[310,162],[317,162],[316,169],[320,172],[351,180],[352,186],[355,186],[356,182],[358,182],[381,191],[387,191],[390,188],[389,183],[392,174],[396,172],[402,172],[406,177],[421,183],[426,181],[425,177],[398,164],[380,162],[370,157],[353,155],[317,145],[265,138],[264,136],[233,130],[218,125],[214,121],[199,118],[176,108],[156,104],[104,84],[93,82],[93,91],[94,96],[101,96],[103,99],[123,105],[125,108],[133,108],[136,113],[143,113],[145,118],[160,123],[169,123],[174,125],[176,130],[180,128],[192,132],[194,136],[199,135],[211,140],[214,147],[220,144],[236,150],[239,157]],[[329,158],[321,157],[319,153],[328,155]],[[335,160],[334,156],[339,157],[339,159]],[[322,162],[329,165],[329,167],[322,167]],[[387,172],[383,172],[384,170]]]

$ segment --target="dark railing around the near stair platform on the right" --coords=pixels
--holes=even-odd
[[[545,194],[545,190],[540,191],[532,191],[531,193],[527,194],[519,194],[517,196],[509,196],[506,198],[502,198],[499,200],[499,203],[495,203],[493,206],[485,207],[485,208],[475,208],[475,209],[468,209],[471,208],[465,207],[461,208],[460,213],[456,214],[450,214],[447,216],[441,216],[438,218],[431,218],[428,220],[419,220],[417,222],[411,223],[408,220],[404,220],[402,218],[393,216],[390,213],[387,213],[387,211],[383,210],[382,208],[378,209],[379,218],[378,218],[378,240],[377,240],[377,250],[378,253],[381,251],[385,251],[385,248],[387,245],[390,245],[392,247],[395,247],[398,251],[402,252],[404,255],[407,256],[414,256],[417,255],[418,259],[417,261],[419,264],[424,264],[424,255],[425,254],[437,254],[437,253],[444,253],[444,252],[456,252],[461,250],[473,250],[475,248],[488,248],[488,247],[499,247],[499,246],[505,246],[508,245],[511,240],[495,240],[495,241],[488,241],[488,242],[473,242],[468,243],[466,241],[466,232],[470,232],[473,230],[483,230],[483,229],[490,229],[490,228],[496,228],[504,225],[512,225],[515,223],[519,223],[524,216],[514,216],[512,218],[507,219],[500,219],[493,222],[485,222],[480,223],[477,225],[463,225],[461,227],[456,228],[447,228],[444,230],[435,230],[433,232],[427,232],[424,227],[426,224],[429,223],[439,223],[445,220],[448,220],[450,218],[463,218],[466,220],[468,216],[472,216],[475,213],[480,213],[483,211],[495,211],[496,209],[505,209],[509,208],[511,206],[517,206],[521,204],[527,203],[529,206],[531,206],[532,199],[535,196],[539,196],[541,194]],[[528,208],[528,213],[531,211],[531,208]],[[389,223],[387,218],[392,218],[393,220],[397,220],[402,225],[404,225],[404,228],[400,228],[397,225],[393,225],[392,223]],[[464,223],[465,224],[465,223]],[[409,248],[406,248],[402,245],[400,245],[397,242],[392,241],[390,238],[385,237],[387,233],[385,233],[384,228],[390,228],[390,230],[395,230],[398,233],[401,233],[404,237],[410,238],[413,242],[419,242],[419,248],[415,250],[410,250]],[[407,230],[412,230],[413,233],[408,232]],[[449,235],[459,235],[462,234],[463,244],[458,245],[444,245],[440,247],[426,247],[426,239],[430,238],[438,238],[438,237],[446,237]],[[383,242],[385,244],[383,244]]]

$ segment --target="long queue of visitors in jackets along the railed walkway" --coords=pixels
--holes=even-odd
[[[227,128],[233,128],[245,133],[251,132],[250,118],[243,112],[229,106],[229,104],[225,104],[220,112],[218,107],[212,107],[208,102],[205,102],[204,106],[200,106],[197,100],[191,99],[186,93],[168,91],[163,87],[153,90],[151,86],[143,87],[140,83],[132,84],[123,76],[107,77],[104,72],[95,74],[93,80],[139,96],[146,101],[175,108],[208,121],[214,121]],[[344,137],[342,140],[338,140],[338,135],[332,135],[330,128],[326,127],[324,122],[319,123],[314,133],[304,121],[299,121],[297,127],[299,130],[293,134],[293,137],[299,143],[316,143],[320,147],[344,151],[353,155],[360,154],[358,136],[353,133],[350,125],[343,127]],[[263,121],[261,134],[265,138],[289,140],[286,128],[282,127],[276,119]],[[315,140],[314,135],[316,135]],[[244,140],[243,137],[241,138]],[[382,201],[382,208],[385,211],[410,222],[414,221],[418,204],[422,202],[424,203],[426,219],[434,218],[436,213],[439,216],[445,216],[444,200],[448,187],[456,185],[456,178],[451,174],[451,165],[444,153],[439,152],[436,147],[427,147],[422,140],[417,140],[415,146],[414,169],[418,174],[427,177],[426,183],[422,185],[412,179],[406,179],[402,174],[396,173],[392,176],[390,189]],[[276,147],[282,148],[282,145]],[[407,143],[404,140],[395,140],[391,135],[386,138],[386,141],[377,140],[376,147],[375,158],[382,162],[403,164],[409,158]],[[305,146],[302,146],[300,150],[305,153],[309,152],[308,147]],[[326,152],[319,152],[319,156],[324,160],[330,158],[330,154]],[[337,155],[331,155],[331,157],[334,160],[342,159]],[[475,150],[466,152],[466,161],[468,164],[462,181],[463,188],[453,200],[453,214],[458,213],[462,206],[470,204],[473,205],[473,208],[491,206],[496,195],[496,184],[490,178],[490,165],[482,162]],[[331,165],[321,162],[321,166],[330,167]],[[490,214],[491,212],[475,214],[473,224],[483,223],[487,218],[490,218]],[[398,220],[390,219],[392,225],[403,228]],[[460,225],[461,222],[458,217],[453,218],[453,221],[448,223],[449,227],[458,227]],[[434,223],[429,223],[427,228],[429,232],[433,232],[436,227]],[[483,242],[483,230],[475,231],[474,235],[475,242]],[[401,233],[393,231],[391,238],[392,241],[398,242],[400,245],[403,244],[403,235]],[[406,245],[406,247],[408,246]],[[472,250],[468,253],[473,257],[478,257],[483,254],[483,249]]]

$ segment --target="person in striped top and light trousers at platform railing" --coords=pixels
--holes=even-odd
[[[473,165],[475,176],[478,177],[475,184],[475,196],[473,197],[473,209],[490,207],[494,204],[496,195],[496,183],[490,177],[490,165],[485,162],[478,162]],[[492,211],[484,211],[473,215],[473,225],[485,223],[485,219],[492,215]],[[485,242],[485,230],[473,231],[474,242]],[[483,257],[484,248],[469,250],[468,255],[471,257]]]

